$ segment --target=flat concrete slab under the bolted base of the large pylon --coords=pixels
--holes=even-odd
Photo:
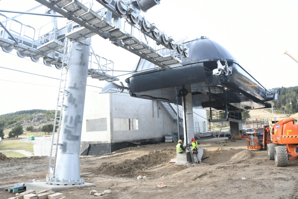
[[[41,191],[44,189],[51,189],[52,192],[63,190],[63,189],[70,189],[75,186],[95,186],[93,183],[84,183],[80,185],[52,185],[47,184],[46,182],[29,182],[26,184],[27,189],[33,189],[35,191]]]

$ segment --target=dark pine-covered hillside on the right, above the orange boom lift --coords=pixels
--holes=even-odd
[[[274,109],[276,112],[284,112],[287,114],[294,114],[298,112],[297,103],[298,86],[295,87],[281,87],[280,88],[280,100],[275,101]]]

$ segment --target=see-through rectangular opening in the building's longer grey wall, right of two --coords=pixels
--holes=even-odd
[[[114,131],[138,130],[139,124],[136,118],[114,118]]]

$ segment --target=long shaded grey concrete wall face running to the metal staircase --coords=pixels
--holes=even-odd
[[[163,134],[175,132],[177,123],[159,102],[153,101],[152,103],[152,100],[133,98],[124,93],[111,96],[113,120],[111,142],[160,138]],[[119,121],[118,118],[130,119],[130,123],[133,122],[134,125],[137,119],[137,126],[134,126],[133,130],[127,128],[119,130],[119,126],[122,127],[124,121]]]

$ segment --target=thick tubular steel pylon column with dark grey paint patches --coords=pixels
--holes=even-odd
[[[90,39],[90,38],[89,38]],[[80,141],[86,93],[90,45],[72,44],[66,83],[55,177],[65,182],[80,180]],[[70,180],[70,181],[69,181]],[[74,183],[75,184],[75,183]]]

